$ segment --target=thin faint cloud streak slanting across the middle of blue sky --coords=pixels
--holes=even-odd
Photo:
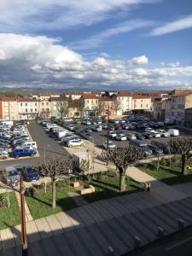
[[[119,33],[131,32],[147,26],[154,26],[154,22],[149,20],[127,20],[114,27],[99,32],[90,38],[74,42],[70,44],[70,47],[72,49],[94,49],[102,44],[103,41],[114,37]]]

